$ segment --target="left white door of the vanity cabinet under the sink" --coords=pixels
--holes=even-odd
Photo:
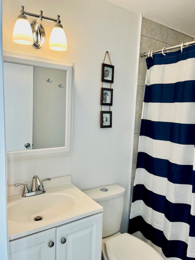
[[[56,229],[52,228],[10,241],[10,260],[55,260],[55,235]],[[49,247],[51,241],[53,247]]]

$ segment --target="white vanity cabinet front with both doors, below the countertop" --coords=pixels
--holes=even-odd
[[[101,260],[101,238],[98,213],[10,241],[10,260]]]

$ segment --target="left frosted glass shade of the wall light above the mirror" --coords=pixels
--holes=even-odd
[[[34,44],[33,32],[27,19],[18,18],[13,29],[13,41],[23,45]]]

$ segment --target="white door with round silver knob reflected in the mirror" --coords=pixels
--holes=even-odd
[[[32,149],[33,66],[3,62],[7,151]],[[25,148],[26,143],[30,148]]]

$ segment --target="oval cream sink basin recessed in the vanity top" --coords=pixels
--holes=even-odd
[[[8,220],[17,223],[35,223],[34,218],[55,219],[65,215],[75,206],[75,200],[67,194],[44,193],[32,197],[21,197],[8,205]],[[37,223],[40,221],[36,221]]]

